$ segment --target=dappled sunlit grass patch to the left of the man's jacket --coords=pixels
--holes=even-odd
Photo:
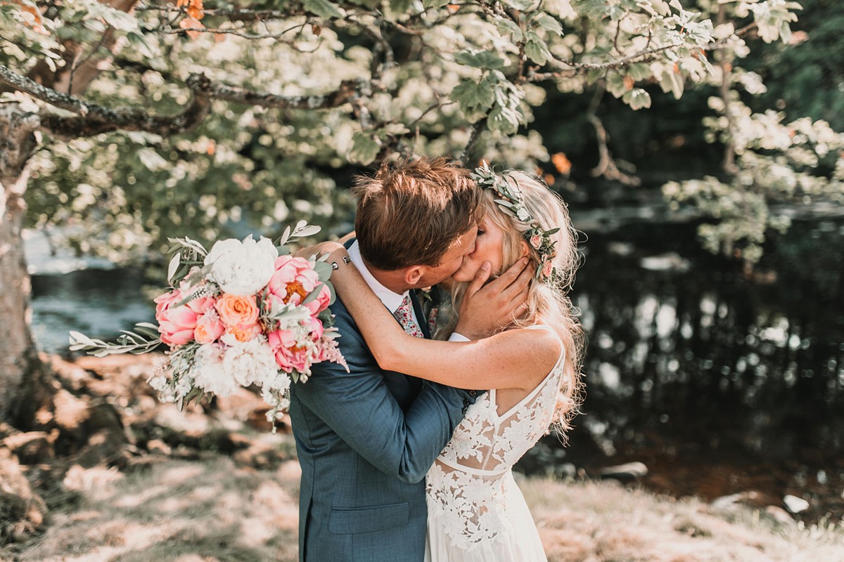
[[[292,561],[298,508],[291,490],[298,482],[278,478],[278,472],[235,468],[225,457],[166,461],[122,479],[105,469],[74,469],[68,481],[84,492],[83,511],[53,512],[54,524],[20,560]],[[92,493],[98,479],[104,487]]]

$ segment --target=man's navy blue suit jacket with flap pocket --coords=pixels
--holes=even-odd
[[[425,474],[475,393],[381,371],[343,303],[331,309],[349,372],[315,365],[290,400],[302,468],[299,559],[421,562]],[[415,297],[414,309],[425,318]]]

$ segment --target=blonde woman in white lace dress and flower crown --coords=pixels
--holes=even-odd
[[[490,272],[529,260],[536,274],[511,324],[484,340],[425,340],[404,333],[343,248],[329,258],[337,264],[332,281],[385,371],[489,390],[426,476],[425,560],[545,560],[511,469],[551,426],[565,430],[576,413],[582,329],[566,295],[578,265],[576,231],[565,203],[540,180],[487,167],[473,176],[484,188],[486,213],[476,249],[452,276],[452,306],[438,314],[437,334],[452,333],[457,311]]]

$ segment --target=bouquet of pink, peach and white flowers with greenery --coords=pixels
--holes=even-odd
[[[289,407],[290,383],[306,383],[311,365],[346,365],[328,310],[332,267],[292,257],[287,246],[317,232],[303,221],[278,246],[249,236],[219,240],[210,252],[190,238],[170,238],[170,287],[154,299],[158,325],[121,330],[116,343],[71,332],[70,349],[106,356],[167,345],[165,364],[149,379],[162,399],[181,407],[255,384],[273,421]]]

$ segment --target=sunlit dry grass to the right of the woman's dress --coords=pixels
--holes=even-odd
[[[612,482],[520,484],[550,562],[842,562],[844,528],[714,511]]]

